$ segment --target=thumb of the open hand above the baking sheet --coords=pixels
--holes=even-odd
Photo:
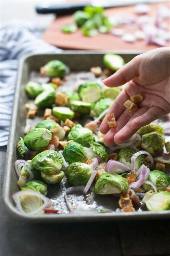
[[[115,72],[112,76],[103,80],[104,84],[108,87],[117,87],[126,84],[134,77],[139,75],[139,65],[141,62],[141,57],[136,56],[122,68],[120,68],[117,72]]]

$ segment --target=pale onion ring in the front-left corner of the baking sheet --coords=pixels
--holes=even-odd
[[[36,196],[36,197],[39,197],[41,198],[44,203],[41,207],[39,207],[38,209],[32,211],[32,212],[25,212],[23,211],[23,208],[21,206],[21,203],[20,203],[20,197],[21,196]],[[24,214],[37,214],[38,212],[42,211],[44,208],[47,207],[48,205],[48,198],[45,197],[43,194],[41,193],[38,193],[36,191],[32,191],[32,190],[21,190],[19,192],[16,192],[13,194],[13,199],[14,199],[14,202],[16,203],[16,207],[18,208],[18,210]]]

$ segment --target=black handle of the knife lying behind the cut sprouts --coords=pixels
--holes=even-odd
[[[39,14],[55,13],[57,16],[71,14],[77,10],[82,10],[89,3],[82,4],[63,4],[63,5],[49,5],[49,6],[36,6],[36,11]]]

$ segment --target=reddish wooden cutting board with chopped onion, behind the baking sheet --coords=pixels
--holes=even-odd
[[[160,3],[159,3],[160,4]],[[150,4],[151,10],[149,15],[154,16],[157,12],[159,4]],[[163,2],[170,8],[170,1]],[[134,6],[123,6],[116,8],[105,9],[105,15],[115,15],[120,12],[134,14]],[[139,17],[136,15],[136,17]],[[44,17],[45,18],[45,17]],[[170,20],[165,19],[169,26]],[[115,51],[147,51],[155,49],[159,46],[146,45],[144,40],[137,40],[134,43],[124,42],[121,37],[113,36],[111,33],[99,33],[95,37],[86,37],[79,29],[75,33],[66,34],[61,32],[61,28],[65,24],[73,23],[71,15],[58,17],[44,32],[42,39],[49,44],[55,45],[62,49],[78,49],[78,50],[115,50]],[[134,29],[124,27],[124,31],[134,33]],[[167,47],[170,47],[170,42],[167,42]]]

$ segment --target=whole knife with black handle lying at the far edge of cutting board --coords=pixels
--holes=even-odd
[[[164,0],[163,0],[164,1]],[[39,5],[36,7],[36,11],[39,14],[48,14],[55,13],[57,16],[62,16],[66,14],[71,14],[76,12],[77,10],[83,10],[83,8],[87,5],[90,6],[102,6],[103,8],[110,7],[118,7],[118,6],[127,6],[127,5],[135,5],[140,3],[155,3],[160,2],[160,0],[92,0],[91,2],[85,3],[63,3],[58,5]],[[162,1],[161,1],[162,2]]]

